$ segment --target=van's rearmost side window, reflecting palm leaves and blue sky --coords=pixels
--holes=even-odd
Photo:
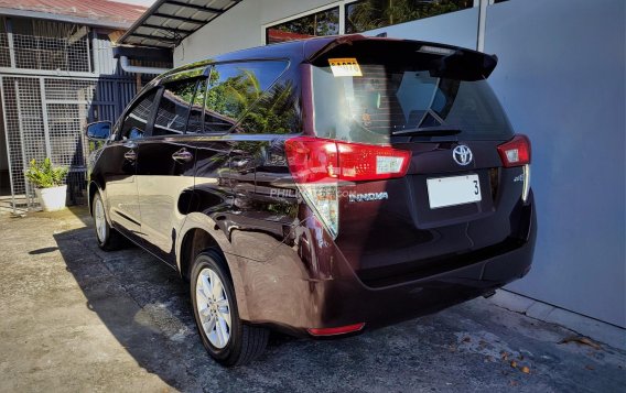
[[[218,64],[211,73],[204,111],[204,132],[271,132],[267,127],[269,111],[266,98],[270,86],[287,68],[287,62],[246,62]],[[282,91],[290,96],[290,91]],[[273,89],[271,89],[273,90]],[[253,121],[242,123],[244,116]],[[242,129],[241,125],[251,127]],[[268,130],[266,130],[268,129]]]

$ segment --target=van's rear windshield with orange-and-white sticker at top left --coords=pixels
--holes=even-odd
[[[315,131],[321,138],[390,143],[393,134],[427,139],[445,134],[458,140],[512,137],[510,123],[484,79],[433,76],[420,69],[425,65],[347,61],[348,68],[344,64],[343,69],[313,66]]]

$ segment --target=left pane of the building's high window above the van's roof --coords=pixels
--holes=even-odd
[[[339,8],[312,13],[266,29],[266,43],[339,34]]]

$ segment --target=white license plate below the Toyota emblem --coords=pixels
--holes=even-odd
[[[481,200],[478,175],[429,178],[427,186],[431,209]]]

